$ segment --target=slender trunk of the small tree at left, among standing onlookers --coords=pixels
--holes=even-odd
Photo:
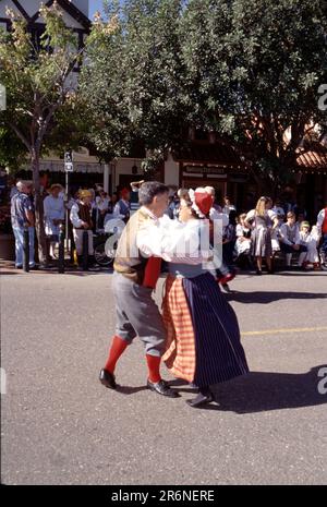
[[[35,150],[32,154],[33,184],[35,190],[35,231],[38,241],[38,259],[43,264],[48,264],[47,239],[44,222],[44,197],[39,185],[39,154]]]

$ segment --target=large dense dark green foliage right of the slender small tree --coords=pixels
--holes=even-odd
[[[126,154],[180,145],[187,125],[238,146],[254,174],[278,185],[314,123],[326,125],[323,0],[108,2],[87,46],[83,90],[90,140]]]

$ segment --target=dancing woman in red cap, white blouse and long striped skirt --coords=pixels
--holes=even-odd
[[[180,217],[187,222],[184,232],[182,229],[169,232],[166,227],[165,233],[174,238],[184,233],[185,242],[194,245],[206,226],[213,198],[205,189],[196,189],[192,200],[192,205],[183,209]],[[167,254],[167,242],[165,250]],[[173,254],[170,261],[162,302],[167,329],[162,359],[174,376],[198,386],[199,394],[187,403],[201,407],[214,400],[211,385],[244,375],[249,367],[237,315],[209,267],[203,264],[203,257],[194,259],[193,265],[183,259],[179,262]]]

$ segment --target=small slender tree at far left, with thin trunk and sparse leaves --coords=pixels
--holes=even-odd
[[[1,124],[25,146],[33,168],[36,232],[39,256],[46,262],[44,210],[39,188],[39,161],[58,119],[75,100],[72,70],[81,60],[74,34],[65,27],[57,2],[40,8],[45,32],[37,47],[25,21],[12,11],[12,31],[0,34],[0,83],[7,89],[7,109]],[[70,130],[66,130],[68,134]]]

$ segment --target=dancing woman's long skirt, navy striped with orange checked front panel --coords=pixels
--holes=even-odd
[[[174,376],[205,387],[249,373],[237,315],[209,273],[169,275],[162,316],[164,361]]]

